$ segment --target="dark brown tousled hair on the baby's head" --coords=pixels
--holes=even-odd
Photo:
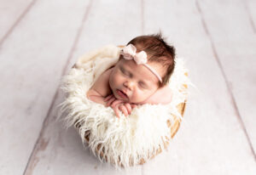
[[[143,50],[150,55],[149,62],[160,63],[166,68],[166,74],[162,77],[163,82],[159,84],[160,87],[168,83],[175,67],[175,48],[166,43],[165,40],[159,32],[154,35],[135,37],[127,43],[127,45],[136,46],[138,52]]]

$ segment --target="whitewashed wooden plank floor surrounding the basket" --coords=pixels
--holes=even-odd
[[[256,174],[255,0],[0,0],[0,174]],[[116,171],[57,116],[61,76],[105,44],[162,31],[190,88],[168,151]]]

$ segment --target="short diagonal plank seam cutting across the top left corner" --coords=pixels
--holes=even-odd
[[[15,30],[15,27],[20,24],[20,21],[25,17],[25,15],[28,13],[28,11],[32,8],[32,6],[37,2],[37,0],[33,0],[32,3],[30,3],[26,9],[20,14],[19,18],[15,21],[15,23],[9,28],[9,30],[5,33],[3,38],[0,41],[0,49],[3,44],[3,42],[9,37],[9,35]]]

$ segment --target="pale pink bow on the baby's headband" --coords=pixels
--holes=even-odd
[[[123,50],[121,51],[121,54],[124,56],[125,59],[133,59],[137,65],[141,64],[146,64],[148,59],[147,59],[147,54],[144,51],[141,51],[139,53],[136,53],[137,48],[129,44],[128,46],[125,46]]]

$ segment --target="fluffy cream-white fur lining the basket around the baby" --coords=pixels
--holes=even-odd
[[[184,75],[188,71],[183,66],[183,59],[176,59],[168,85],[173,92],[172,103],[143,104],[133,109],[130,116],[118,118],[110,107],[87,99],[86,92],[103,71],[117,62],[119,51],[120,48],[108,45],[78,60],[77,68],[63,77],[62,89],[67,97],[61,103],[61,113],[67,115],[67,127],[79,125],[83,142],[85,137],[89,138],[90,150],[101,161],[112,162],[116,167],[131,167],[165,148],[171,138],[166,121],[171,121],[172,125],[174,116],[182,119],[177,104],[187,99],[187,88],[183,84],[190,82]]]

